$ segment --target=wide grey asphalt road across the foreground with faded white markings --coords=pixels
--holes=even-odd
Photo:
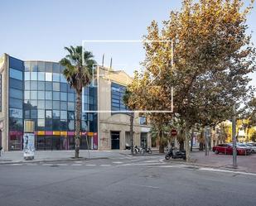
[[[0,205],[256,205],[256,175],[157,156],[0,165]]]

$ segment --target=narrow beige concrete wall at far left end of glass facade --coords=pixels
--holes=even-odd
[[[2,149],[8,150],[8,68],[9,68],[9,56],[7,54],[2,55],[0,58],[0,74],[2,74],[2,111],[0,112],[1,132],[2,132]]]

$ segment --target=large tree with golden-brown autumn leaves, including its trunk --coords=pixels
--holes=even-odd
[[[171,12],[161,30],[155,21],[147,28],[144,70],[133,80],[137,98],[132,102],[147,110],[170,109],[174,87],[174,113],[184,122],[187,160],[191,128],[229,119],[234,103],[244,101],[251,89],[247,74],[255,70],[255,49],[246,34],[246,17],[252,7],[242,7],[241,0],[184,0],[181,12]],[[164,122],[172,117],[150,116]]]

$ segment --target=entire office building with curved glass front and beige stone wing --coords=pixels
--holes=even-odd
[[[36,150],[74,149],[75,91],[67,84],[63,69],[57,62],[23,61],[7,54],[0,58],[0,146],[4,151],[22,150],[24,119],[35,122]],[[80,149],[124,149],[130,142],[128,114],[97,112],[103,107],[123,110],[122,95],[128,82],[120,77],[128,75],[111,72],[99,75],[99,84],[83,91]],[[135,143],[150,146],[149,127],[139,121],[137,117]]]

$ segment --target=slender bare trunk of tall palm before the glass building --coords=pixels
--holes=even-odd
[[[81,106],[82,106],[82,93],[81,92],[76,92],[76,102],[75,102],[75,158],[79,158],[79,153],[80,153]]]

